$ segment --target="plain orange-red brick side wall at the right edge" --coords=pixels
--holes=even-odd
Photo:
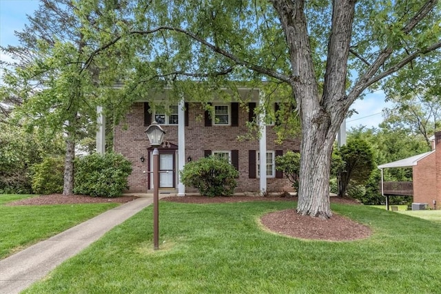
[[[413,202],[428,203],[433,208],[437,200],[435,153],[426,156],[413,166]]]

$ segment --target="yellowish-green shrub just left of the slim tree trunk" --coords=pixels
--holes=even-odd
[[[32,167],[32,190],[37,194],[63,192],[64,158],[47,157]]]

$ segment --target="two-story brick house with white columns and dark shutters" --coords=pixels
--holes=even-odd
[[[189,99],[178,104],[169,104],[165,95],[155,96],[155,105],[139,101],[132,105],[125,120],[114,129],[114,151],[123,154],[132,162],[129,177],[130,192],[147,192],[152,187],[152,147],[145,129],[156,120],[165,130],[164,143],[158,148],[160,156],[160,189],[170,190],[183,196],[195,192],[179,181],[178,171],[186,162],[198,160],[210,154],[228,158],[239,171],[236,192],[282,192],[293,191],[291,182],[282,172],[276,171],[276,156],[288,150],[300,149],[300,138],[276,143],[274,125],[263,127],[260,115],[260,138],[238,140],[249,132],[247,124],[258,121],[254,114],[259,107],[259,90],[241,88],[240,96],[246,106],[232,101],[212,101],[214,115],[205,111],[202,103]],[[159,106],[158,106],[159,105]],[[278,107],[275,103],[274,107]],[[260,158],[260,154],[265,154]],[[265,168],[261,169],[260,166]],[[164,172],[168,171],[168,172]],[[266,176],[261,176],[261,174]],[[150,175],[150,176],[149,176]]]

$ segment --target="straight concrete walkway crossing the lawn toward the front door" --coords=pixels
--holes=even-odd
[[[144,194],[141,198],[105,211],[63,233],[0,260],[0,293],[20,293],[45,277],[61,262],[76,255],[152,202],[151,194]]]

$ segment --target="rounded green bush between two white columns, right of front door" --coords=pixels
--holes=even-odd
[[[181,171],[184,185],[198,189],[203,196],[232,196],[238,171],[223,158],[208,156],[188,162]]]

